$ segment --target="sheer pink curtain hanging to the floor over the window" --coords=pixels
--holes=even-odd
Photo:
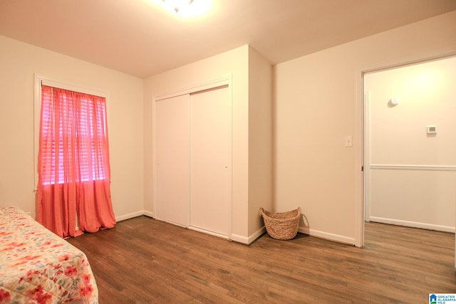
[[[63,238],[115,226],[105,105],[41,87],[37,220]]]

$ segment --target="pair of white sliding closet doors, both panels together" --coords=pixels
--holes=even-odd
[[[232,103],[228,85],[157,100],[156,218],[229,237]]]

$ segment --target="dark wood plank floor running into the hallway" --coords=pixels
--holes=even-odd
[[[456,293],[455,236],[366,224],[356,248],[298,234],[245,246],[141,216],[69,239],[86,252],[100,304],[429,303]]]

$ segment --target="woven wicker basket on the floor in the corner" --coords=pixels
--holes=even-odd
[[[298,233],[301,208],[286,212],[271,212],[261,208],[264,226],[269,236],[278,240],[293,239]]]

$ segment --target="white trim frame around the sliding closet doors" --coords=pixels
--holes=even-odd
[[[212,80],[207,80],[207,81],[204,81],[202,83],[195,83],[195,84],[192,84],[192,85],[189,85],[185,88],[176,88],[175,90],[170,90],[169,92],[165,92],[165,93],[159,93],[157,95],[154,95],[152,96],[152,112],[153,112],[153,122],[152,122],[152,135],[153,135],[153,139],[152,139],[152,184],[153,184],[153,187],[152,187],[152,197],[153,197],[153,202],[152,202],[152,217],[155,217],[157,215],[157,154],[156,154],[156,151],[157,151],[157,117],[155,116],[157,114],[157,111],[156,111],[156,103],[157,101],[160,101],[160,100],[164,100],[164,99],[167,99],[167,98],[174,98],[174,97],[177,97],[177,96],[180,96],[180,95],[190,95],[192,93],[197,93],[199,91],[202,91],[202,90],[210,90],[210,89],[214,89],[214,88],[219,88],[219,87],[222,87],[222,86],[228,86],[228,94],[229,94],[229,100],[230,100],[230,103],[231,103],[231,109],[232,109],[232,112],[231,112],[231,117],[233,117],[232,113],[233,113],[233,98],[232,98],[232,75],[229,74],[229,75],[224,75],[224,76],[221,76],[219,78],[213,78]],[[233,126],[231,126],[232,128]],[[233,130],[232,130],[233,132]],[[233,133],[232,133],[233,134]],[[232,144],[231,144],[231,147],[232,147]],[[233,170],[233,166],[232,166],[232,170]],[[189,177],[190,178],[190,177]],[[232,184],[232,183],[231,183]],[[232,191],[232,189],[231,189]],[[189,204],[190,204],[190,197],[189,197]],[[231,204],[232,205],[232,204]],[[189,216],[189,223],[190,223],[190,212],[188,214]],[[219,237],[222,237],[222,238],[225,238],[225,239],[231,239],[231,235],[232,235],[232,210],[229,214],[229,222],[230,222],[230,232],[229,232],[229,236],[223,236],[223,235],[219,235],[219,234],[216,234],[216,233],[211,233],[211,231],[203,231],[207,234],[213,234],[215,236],[219,236]],[[192,229],[192,227],[190,226],[187,226],[187,228],[190,228]],[[198,230],[198,229],[195,229],[195,230]]]

